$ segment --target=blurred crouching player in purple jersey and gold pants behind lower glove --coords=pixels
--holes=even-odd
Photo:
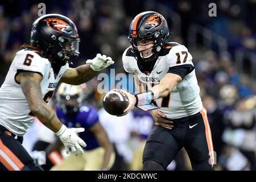
[[[63,160],[58,162],[56,149],[60,150],[61,143],[59,140],[52,143],[46,149],[48,158],[56,164],[51,170],[108,170],[114,163],[113,146],[99,122],[97,110],[88,104],[83,104],[85,86],[85,84],[79,86],[61,84],[56,93],[59,103],[56,106],[56,114],[68,127],[84,127],[85,131],[80,137],[88,143],[88,146],[84,148],[84,154],[64,155]]]

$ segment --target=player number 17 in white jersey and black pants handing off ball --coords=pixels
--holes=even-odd
[[[166,169],[182,147],[194,170],[212,170],[212,138],[192,56],[185,46],[168,42],[169,38],[167,21],[159,13],[146,11],[131,22],[131,47],[123,53],[123,68],[134,74],[141,92],[123,91],[129,97],[124,114],[134,106],[158,108],[150,111],[158,125],[144,147],[144,170]]]

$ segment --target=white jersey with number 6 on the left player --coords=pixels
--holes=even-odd
[[[0,88],[0,125],[15,135],[23,136],[34,119],[21,86],[15,80],[19,72],[36,72],[43,76],[40,85],[43,99],[48,102],[68,67],[68,63],[65,64],[55,75],[48,59],[28,49],[18,51]]]

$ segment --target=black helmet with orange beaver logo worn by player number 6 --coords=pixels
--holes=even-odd
[[[60,65],[79,56],[79,35],[75,23],[60,14],[36,19],[31,30],[31,45],[42,49]]]

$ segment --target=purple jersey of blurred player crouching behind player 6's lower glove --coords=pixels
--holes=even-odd
[[[79,137],[81,137],[87,144],[87,147],[85,147],[84,150],[93,150],[100,146],[95,135],[89,131],[89,128],[98,122],[98,113],[94,107],[82,105],[77,112],[75,119],[69,119],[60,107],[56,107],[56,114],[60,121],[69,128],[85,128],[84,132],[79,133]]]

